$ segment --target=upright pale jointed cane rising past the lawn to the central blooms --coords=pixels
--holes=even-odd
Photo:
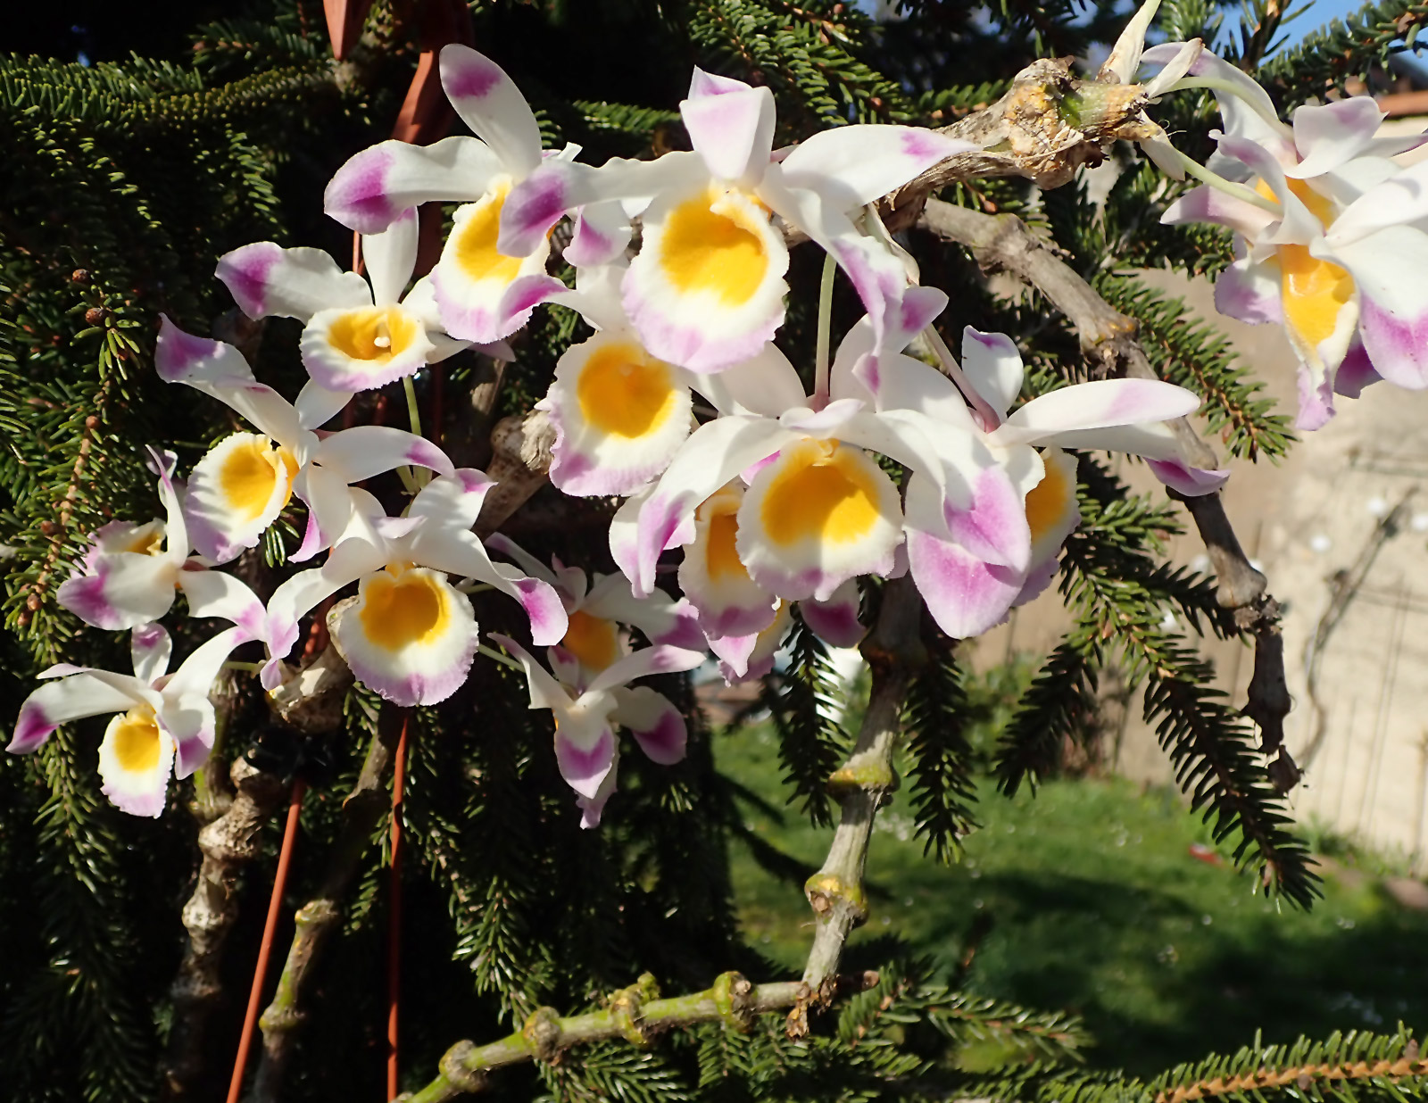
[[[843,812],[823,867],[804,886],[818,919],[804,983],[824,1003],[833,996],[833,977],[848,934],[868,916],[863,870],[873,817],[883,799],[897,789],[892,749],[901,732],[908,687],[927,663],[921,617],[922,599],[912,580],[895,579],[884,587],[877,624],[863,642],[863,657],[873,672],[868,710],[853,753],[828,779]],[[788,1016],[788,1032],[797,1036],[807,1030],[808,1006],[800,1003]]]

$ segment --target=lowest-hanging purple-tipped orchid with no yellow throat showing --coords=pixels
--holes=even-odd
[[[648,686],[628,683],[650,674],[693,670],[704,662],[703,650],[641,647],[605,667],[583,692],[573,693],[518,643],[506,636],[491,639],[526,669],[530,707],[550,709],[555,716],[555,763],[577,793],[583,827],[600,823],[614,790],[620,754],[614,726],[627,729],[651,762],[671,766],[684,757],[687,729],[680,710]]]

